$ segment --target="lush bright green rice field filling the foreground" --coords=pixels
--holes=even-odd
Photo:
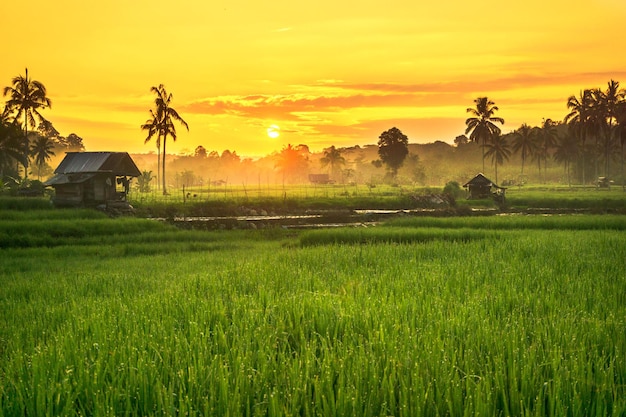
[[[624,216],[2,214],[0,416],[626,414]]]

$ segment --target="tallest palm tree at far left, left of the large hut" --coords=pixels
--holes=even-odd
[[[30,152],[28,127],[35,128],[36,119],[40,122],[44,120],[39,110],[51,107],[52,102],[46,96],[46,87],[39,81],[28,78],[28,68],[26,68],[26,75],[24,77],[18,75],[13,78],[12,84],[11,87],[4,87],[3,90],[3,95],[10,97],[6,102],[4,111],[13,115],[14,122],[24,117],[22,152],[24,153],[24,177],[28,178],[28,154]]]

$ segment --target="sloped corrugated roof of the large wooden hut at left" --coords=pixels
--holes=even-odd
[[[127,152],[68,152],[55,174],[88,174],[107,172],[138,177],[139,168]]]

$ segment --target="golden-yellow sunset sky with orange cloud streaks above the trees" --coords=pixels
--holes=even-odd
[[[159,84],[189,125],[168,153],[250,157],[392,127],[452,143],[485,96],[506,133],[562,120],[585,88],[626,87],[624,0],[3,1],[0,39],[0,87],[28,68],[44,117],[88,151],[156,152],[140,126]]]

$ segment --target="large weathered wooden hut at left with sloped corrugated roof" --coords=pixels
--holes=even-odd
[[[44,184],[54,188],[55,206],[109,207],[126,202],[141,172],[127,152],[67,152],[54,174]]]

